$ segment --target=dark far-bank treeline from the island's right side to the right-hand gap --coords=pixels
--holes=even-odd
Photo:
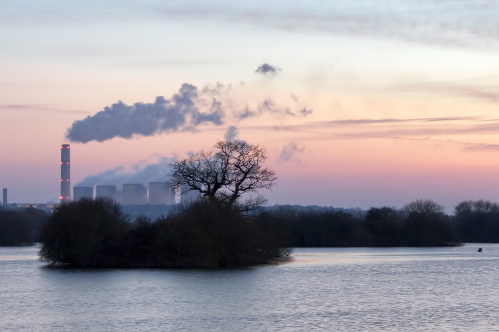
[[[365,216],[341,211],[304,211],[280,207],[261,216],[284,223],[292,247],[444,246],[460,236],[444,208],[432,201],[415,201],[402,210],[371,208]]]

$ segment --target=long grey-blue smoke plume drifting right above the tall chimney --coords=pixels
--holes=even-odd
[[[196,130],[203,124],[221,126],[264,113],[279,117],[307,116],[312,112],[300,106],[297,111],[282,107],[267,98],[242,107],[232,85],[207,85],[199,90],[184,83],[170,99],[156,97],[154,103],[127,105],[121,101],[105,107],[93,115],[76,120],[68,128],[66,137],[73,142],[103,142],[115,137],[133,138],[163,132]],[[223,104],[224,103],[224,104]],[[227,114],[227,109],[234,110]]]

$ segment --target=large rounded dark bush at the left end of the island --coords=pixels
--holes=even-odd
[[[111,199],[61,204],[43,229],[40,257],[51,264],[81,267],[122,266],[129,223]]]

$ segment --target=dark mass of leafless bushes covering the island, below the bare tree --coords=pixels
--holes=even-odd
[[[40,257],[78,267],[244,266],[289,253],[271,224],[206,200],[163,219],[131,222],[111,200],[82,199],[52,214]]]

